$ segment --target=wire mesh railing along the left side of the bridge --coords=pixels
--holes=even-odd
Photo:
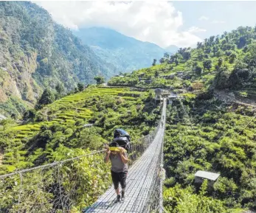
[[[153,142],[159,125],[133,142],[135,161]],[[79,212],[110,186],[105,150],[0,176],[0,212]]]

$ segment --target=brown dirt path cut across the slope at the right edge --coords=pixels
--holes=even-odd
[[[254,99],[235,97],[235,95],[232,95],[232,93],[230,93],[230,92],[219,91],[219,90],[215,90],[214,95],[215,95],[215,97],[218,97],[219,99],[223,100],[224,102],[231,101],[231,102],[238,103],[239,105],[246,105],[246,106],[250,106],[252,108],[256,108],[256,102]]]

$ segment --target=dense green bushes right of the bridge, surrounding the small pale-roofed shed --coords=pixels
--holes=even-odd
[[[166,208],[170,212],[256,209],[255,127],[252,108],[195,97],[173,102],[164,148]],[[221,174],[203,197],[194,184],[198,170]]]

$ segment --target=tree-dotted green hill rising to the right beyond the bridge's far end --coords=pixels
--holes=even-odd
[[[195,49],[181,48],[174,55],[165,54],[159,60],[161,65],[134,71],[124,78],[113,78],[109,84],[190,90],[199,86],[226,89],[240,97],[254,98],[255,49],[256,27],[238,27],[198,42]],[[147,84],[139,77],[151,80],[151,83]]]

